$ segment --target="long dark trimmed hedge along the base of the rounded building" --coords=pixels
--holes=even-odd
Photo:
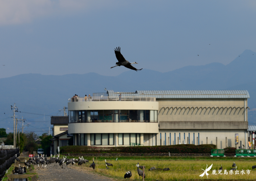
[[[60,153],[211,153],[216,145],[170,145],[170,146],[63,146]]]

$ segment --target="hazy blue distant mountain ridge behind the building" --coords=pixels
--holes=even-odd
[[[253,55],[254,54],[254,55]],[[133,70],[118,76],[103,76],[96,73],[67,74],[62,76],[22,74],[0,79],[0,124],[13,129],[10,105],[15,102],[21,112],[56,115],[59,109],[67,107],[68,99],[74,94],[84,96],[94,92],[104,92],[104,88],[114,91],[134,92],[136,90],[248,90],[248,106],[256,108],[256,53],[245,50],[228,65],[211,63],[201,66],[185,66],[170,72],[143,69]],[[114,71],[114,70],[113,70]],[[5,113],[5,114],[4,114]],[[50,117],[22,114],[34,130],[46,129]],[[63,115],[63,113],[62,113]],[[248,116],[256,123],[254,116]],[[255,120],[254,120],[255,119]],[[3,124],[1,124],[3,125]],[[1,127],[1,126],[0,126]],[[28,129],[28,128],[27,128]],[[28,130],[32,129],[29,128]]]

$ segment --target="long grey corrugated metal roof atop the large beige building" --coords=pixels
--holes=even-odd
[[[108,96],[156,97],[158,99],[245,99],[250,98],[247,90],[137,90],[136,92],[114,92],[108,90]]]

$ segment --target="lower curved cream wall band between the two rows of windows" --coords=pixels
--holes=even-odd
[[[68,133],[158,133],[158,123],[69,123]]]

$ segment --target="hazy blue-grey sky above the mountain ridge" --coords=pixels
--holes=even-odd
[[[228,64],[256,51],[255,19],[256,1],[1,0],[0,78],[118,75],[128,69],[110,69],[117,46],[136,68],[160,72]]]

